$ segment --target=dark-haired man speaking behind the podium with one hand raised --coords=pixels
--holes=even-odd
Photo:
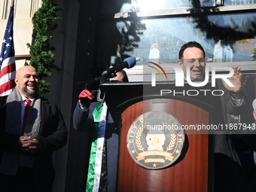
[[[183,44],[179,51],[178,65],[183,69],[184,77],[187,77],[187,67],[189,67],[190,74],[188,77],[190,80],[203,81],[206,68],[205,56],[205,50],[196,41]],[[218,123],[228,123],[227,114],[241,114],[248,110],[248,98],[242,91],[242,73],[237,66],[233,67],[233,70],[234,74],[228,80],[234,87],[218,80],[218,89],[224,92],[224,95],[221,96],[221,103],[216,106],[220,109],[219,114],[221,114],[218,116]],[[215,135],[214,190],[216,192],[247,191],[242,165],[228,131]]]

